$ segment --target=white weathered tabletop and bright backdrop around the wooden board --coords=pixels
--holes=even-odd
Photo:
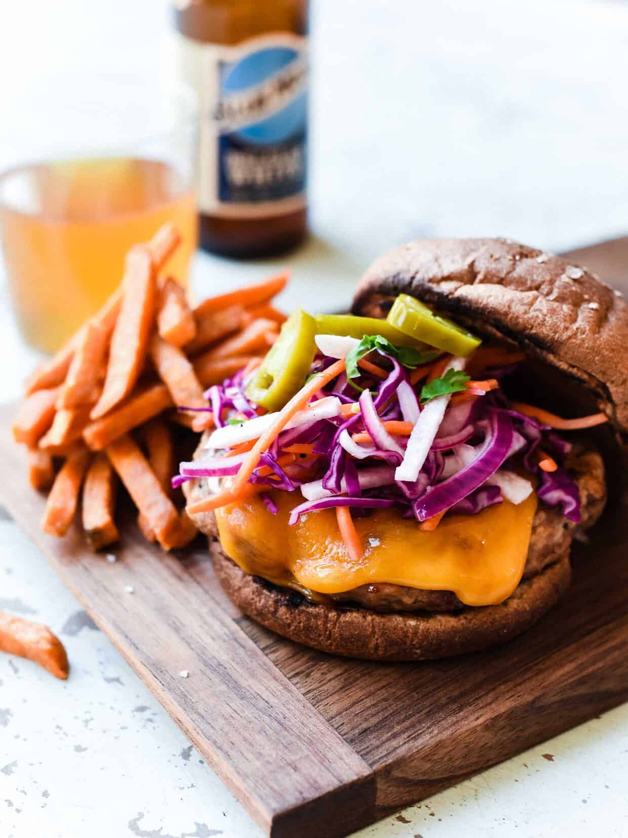
[[[32,82],[42,74],[80,68],[87,78],[112,61],[167,73],[162,7],[3,7],[0,165],[36,119]],[[319,0],[315,24],[313,235],[290,257],[286,308],[342,306],[368,260],[412,235],[509,235],[560,249],[625,232],[628,4]],[[198,256],[193,286],[198,295],[233,287],[279,264]],[[0,353],[6,400],[34,356],[3,287]],[[0,658],[2,838],[259,835],[4,518],[0,580],[0,608],[49,623],[72,663],[60,683]],[[623,706],[359,835],[628,835],[626,776]]]

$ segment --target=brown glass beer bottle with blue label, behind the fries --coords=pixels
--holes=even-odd
[[[306,234],[307,0],[175,0],[198,91],[200,243],[286,251]]]

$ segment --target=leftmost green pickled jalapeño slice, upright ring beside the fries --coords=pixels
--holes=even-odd
[[[251,401],[269,411],[281,410],[303,386],[310,373],[317,346],[317,322],[297,308],[281,327],[260,369],[246,388]]]

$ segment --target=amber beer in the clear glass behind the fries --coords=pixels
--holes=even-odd
[[[3,174],[4,260],[28,343],[59,349],[120,284],[126,251],[165,221],[183,235],[168,272],[185,284],[197,244],[196,205],[167,163],[102,158]]]

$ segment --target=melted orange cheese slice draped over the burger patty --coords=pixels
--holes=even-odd
[[[288,525],[295,493],[272,491],[272,515],[258,496],[216,511],[227,556],[245,572],[284,587],[321,594],[351,591],[374,582],[453,591],[466,605],[494,605],[521,580],[528,556],[537,496],[515,506],[507,500],[479,515],[448,515],[431,532],[396,510],[355,518],[364,545],[352,561],[338,533],[334,510],[301,515]]]

